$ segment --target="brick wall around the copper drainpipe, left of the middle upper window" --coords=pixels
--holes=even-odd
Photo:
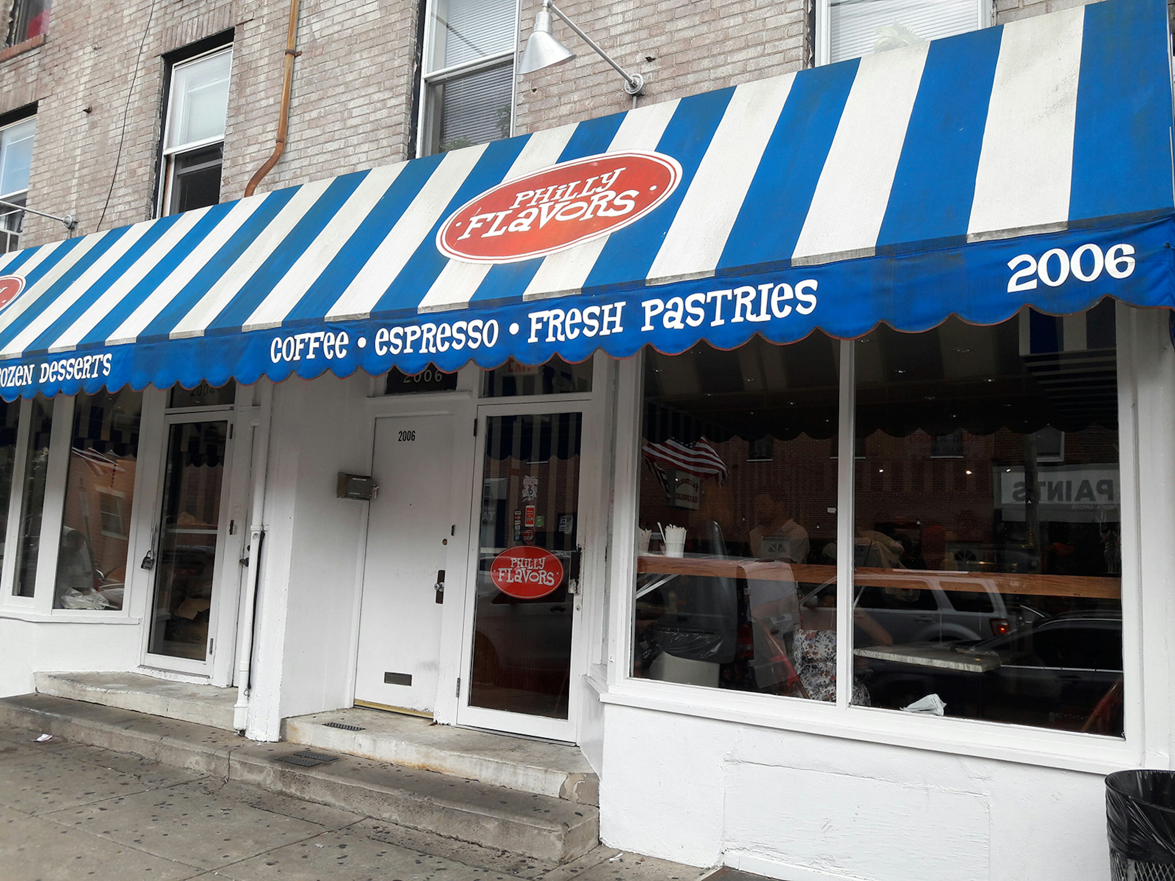
[[[286,0],[58,0],[45,45],[0,62],[0,114],[38,103],[28,204],[78,216],[78,234],[150,217],[162,56],[230,28],[221,194],[240,197],[273,150],[288,20]],[[303,0],[300,22],[289,143],[261,190],[405,157],[415,2]],[[25,230],[63,235],[32,215]]]

